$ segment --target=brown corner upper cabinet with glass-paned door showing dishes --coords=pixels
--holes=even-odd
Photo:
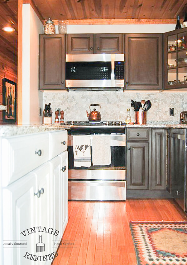
[[[164,89],[187,88],[187,30],[164,33]]]

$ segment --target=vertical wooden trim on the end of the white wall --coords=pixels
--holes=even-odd
[[[22,6],[18,0],[17,124],[22,124]]]

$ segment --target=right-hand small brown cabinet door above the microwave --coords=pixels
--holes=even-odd
[[[123,53],[122,34],[96,34],[96,53]]]

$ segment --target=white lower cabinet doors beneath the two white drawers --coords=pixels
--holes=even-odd
[[[4,245],[7,248],[3,248],[3,265],[48,265],[52,262],[49,259],[52,256],[45,259],[57,250],[67,225],[67,194],[67,151],[2,189],[3,242],[26,243]],[[44,245],[39,243],[40,235],[45,251]],[[36,256],[45,256],[44,261],[32,260]]]

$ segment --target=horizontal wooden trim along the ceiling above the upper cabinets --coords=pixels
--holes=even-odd
[[[58,25],[58,20],[53,21],[55,25]],[[65,21],[68,25],[176,24],[176,19],[72,19]]]

